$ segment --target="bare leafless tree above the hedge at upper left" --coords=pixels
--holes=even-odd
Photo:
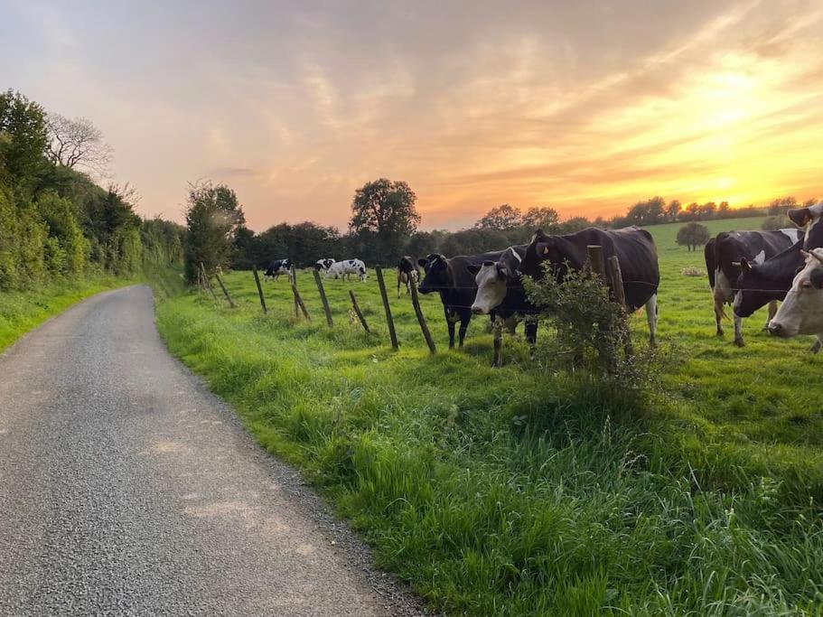
[[[85,117],[69,118],[49,114],[50,157],[55,164],[79,167],[108,177],[113,148],[103,141],[103,133]]]

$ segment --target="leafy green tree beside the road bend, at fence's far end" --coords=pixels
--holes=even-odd
[[[200,264],[209,273],[219,266],[229,266],[235,235],[245,222],[237,194],[225,184],[214,186],[210,181],[200,181],[189,185],[185,251],[189,283],[197,281]]]

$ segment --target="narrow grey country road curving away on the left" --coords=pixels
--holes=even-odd
[[[0,355],[0,614],[417,614],[165,350],[145,286]]]

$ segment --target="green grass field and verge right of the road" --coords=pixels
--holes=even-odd
[[[157,321],[171,351],[436,609],[821,614],[823,358],[808,339],[761,332],[763,312],[744,324],[744,349],[717,339],[706,277],[681,275],[705,269],[702,252],[677,247],[677,228],[650,228],[662,374],[644,396],[538,369],[509,338],[491,369],[487,318],[447,351],[436,296],[422,298],[430,357],[390,271],[397,353],[371,272],[326,282],[332,330],[308,272],[310,323],[295,320],[285,280],[266,285],[264,317],[244,272],[226,277],[237,309],[188,294],[160,304]],[[642,315],[632,328],[645,350]]]

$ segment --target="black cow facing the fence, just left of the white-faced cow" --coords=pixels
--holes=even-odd
[[[454,324],[460,322],[459,347],[463,347],[466,330],[472,321],[472,304],[477,285],[468,266],[481,265],[484,261],[497,261],[502,251],[482,253],[482,255],[459,255],[447,259],[444,255],[433,253],[420,258],[417,263],[423,268],[421,294],[438,292],[443,303],[445,322],[449,329],[449,349],[454,348]]]

